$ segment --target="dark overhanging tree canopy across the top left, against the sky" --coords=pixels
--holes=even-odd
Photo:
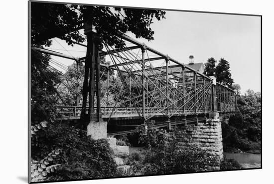
[[[123,46],[120,34],[133,32],[137,38],[153,40],[150,28],[153,18],[164,18],[165,11],[153,9],[120,8],[109,6],[31,2],[31,43],[50,45],[50,38],[59,37],[72,44],[85,37],[78,29],[87,22],[103,40],[113,46]]]

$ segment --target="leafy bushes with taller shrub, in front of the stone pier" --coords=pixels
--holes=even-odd
[[[176,174],[199,171],[213,171],[218,166],[217,157],[196,145],[178,145],[176,129],[167,132],[163,129],[140,126],[139,143],[145,146],[140,154],[130,158],[132,175]]]

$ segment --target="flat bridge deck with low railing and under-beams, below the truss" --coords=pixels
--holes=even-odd
[[[79,120],[80,114],[81,114],[81,106],[57,106],[57,113],[60,115],[60,118],[57,120]],[[116,131],[109,131],[108,128],[108,136],[118,136],[118,135],[124,135],[124,134],[130,134],[133,132],[136,132],[136,127],[139,126],[139,123],[136,123],[134,120],[140,119],[140,116],[136,113],[136,109],[133,107],[102,107],[102,116],[104,121],[110,121],[110,122],[116,122],[108,124],[108,126],[112,126],[110,130],[115,130],[116,128],[122,128],[125,127],[123,130],[116,130]],[[206,121],[206,116],[208,113],[211,112],[211,110],[206,111],[197,111],[191,112],[189,109],[185,109],[184,115],[187,116],[185,119],[176,119],[178,116],[183,115],[183,111],[175,111],[174,109],[169,109],[170,113],[173,113],[173,119],[170,120],[170,125],[165,122],[164,120],[167,119],[166,115],[163,113],[157,113],[159,108],[149,108],[146,109],[146,116],[149,116],[153,114],[153,118],[155,120],[155,123],[153,127],[155,128],[168,128],[169,126],[175,126],[175,125],[186,125],[186,124],[195,124],[198,122],[204,122]],[[175,113],[175,114],[174,114]],[[226,120],[227,118],[235,115],[233,112],[219,112],[220,118],[223,120]],[[112,116],[110,116],[112,114]],[[197,116],[195,116],[197,115]],[[126,121],[125,123],[117,123],[117,121]],[[127,121],[127,120],[133,120]],[[160,120],[160,121],[159,121]],[[124,122],[125,122],[124,121]],[[114,129],[113,129],[114,128]],[[127,130],[130,129],[130,130]]]

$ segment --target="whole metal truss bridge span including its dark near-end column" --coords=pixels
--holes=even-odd
[[[236,111],[235,91],[216,82],[214,76],[205,76],[127,35],[121,35],[121,38],[125,40],[124,47],[114,48],[104,41],[104,48],[96,51],[96,45],[92,41],[95,33],[90,33],[91,41],[88,37],[87,45],[75,43],[86,51],[87,55],[84,57],[67,55],[50,48],[31,47],[33,52],[44,57],[49,54],[76,62],[76,77],[70,79],[76,84],[75,88],[70,89],[76,94],[75,103],[57,105],[59,119],[80,119],[81,114],[85,114],[90,117],[90,121],[140,119],[145,123],[159,117],[170,120],[174,117]],[[93,55],[89,55],[92,49]],[[107,62],[100,62],[102,60]],[[62,64],[51,58],[50,62]],[[88,66],[89,62],[93,64]],[[53,64],[45,67],[56,72],[58,69]],[[81,73],[81,66],[85,67],[85,71],[88,67],[97,67],[98,70]],[[64,73],[57,72],[65,76]],[[91,80],[98,83],[91,81],[85,84],[84,81],[84,86],[81,86],[80,79],[89,74],[95,75],[93,78],[91,75]],[[62,82],[65,85],[66,82]],[[83,99],[85,92],[83,96],[80,92],[81,88],[85,91],[85,85],[87,93],[92,96],[88,100]],[[66,86],[69,88],[67,83]],[[93,100],[95,97],[97,101]]]

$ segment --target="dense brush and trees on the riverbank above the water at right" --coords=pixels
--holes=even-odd
[[[238,96],[239,112],[222,125],[225,152],[261,153],[261,93],[248,90]]]

